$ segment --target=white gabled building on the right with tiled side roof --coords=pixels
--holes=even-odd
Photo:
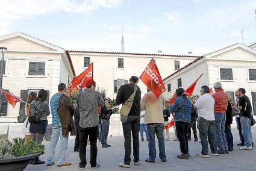
[[[175,93],[178,87],[187,89],[201,73],[194,95],[199,95],[202,85],[213,87],[220,81],[225,92],[234,92],[240,87],[245,88],[246,95],[251,99],[256,114],[256,45],[251,48],[235,44],[210,54],[204,55],[182,67],[180,70],[164,78],[164,85],[169,89],[164,93],[166,98]]]

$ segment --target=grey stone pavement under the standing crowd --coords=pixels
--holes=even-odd
[[[178,141],[165,141],[167,162],[162,163],[159,158],[156,158],[156,163],[146,163],[145,159],[148,158],[148,143],[146,141],[140,142],[140,166],[134,166],[133,163],[131,163],[130,169],[122,169],[117,166],[123,160],[123,137],[109,137],[108,143],[112,145],[110,148],[103,149],[98,143],[98,163],[101,164],[101,168],[95,170],[256,170],[256,149],[254,148],[252,151],[241,151],[238,146],[236,146],[236,144],[239,143],[239,135],[237,134],[236,125],[232,126],[232,131],[234,136],[234,151],[230,152],[230,154],[220,155],[218,157],[210,156],[210,158],[196,157],[196,154],[201,152],[201,143],[194,142],[192,138],[192,141],[189,141],[189,152],[191,155],[189,160],[180,160],[176,158],[176,155],[180,154]],[[171,132],[171,135],[173,136],[173,132]],[[256,126],[252,127],[252,135],[256,137]],[[47,145],[49,141],[44,141],[44,143],[46,145],[47,152]],[[72,166],[57,167],[56,164],[51,167],[47,167],[46,164],[38,166],[28,165],[25,170],[79,170],[77,167],[80,161],[79,155],[78,153],[73,152],[73,143],[74,138],[71,137],[66,155],[67,161],[71,161]],[[45,154],[40,157],[41,160],[45,160],[45,158]],[[88,164],[86,166],[86,170],[90,170],[89,158],[90,152],[89,147],[87,146]]]

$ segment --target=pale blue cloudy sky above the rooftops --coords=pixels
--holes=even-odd
[[[66,50],[203,55],[256,43],[256,0],[0,0],[0,36]],[[243,40],[241,31],[243,30]]]

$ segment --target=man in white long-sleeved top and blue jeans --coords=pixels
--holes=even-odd
[[[198,157],[209,157],[208,142],[211,148],[211,155],[217,156],[217,147],[214,141],[214,104],[213,97],[209,94],[209,87],[204,85],[201,87],[201,96],[195,103],[198,108],[199,117],[199,137],[201,138],[202,151]]]

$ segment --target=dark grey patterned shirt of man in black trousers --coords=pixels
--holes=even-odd
[[[98,125],[98,105],[103,106],[104,101],[101,93],[95,90],[86,89],[78,93],[76,102],[80,111],[79,126],[82,128],[91,128]]]

